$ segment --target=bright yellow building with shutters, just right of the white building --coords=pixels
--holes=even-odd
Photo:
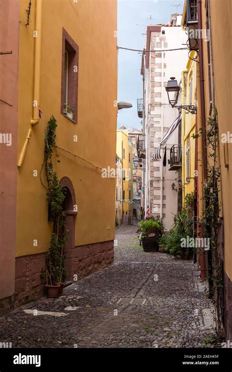
[[[190,52],[186,70],[182,71],[182,105],[195,105],[196,103],[196,52]],[[195,180],[195,139],[192,137],[196,131],[196,115],[182,110],[182,185],[183,205],[185,197],[194,191]]]

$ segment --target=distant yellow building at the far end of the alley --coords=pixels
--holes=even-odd
[[[122,224],[133,222],[132,144],[126,130],[117,130],[116,154],[122,159]]]

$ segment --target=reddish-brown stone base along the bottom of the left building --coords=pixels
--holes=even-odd
[[[105,241],[74,247],[67,251],[68,280],[86,277],[114,261],[114,241]],[[45,294],[45,280],[41,269],[45,268],[45,253],[17,257],[15,262],[15,292],[0,300],[0,315],[10,312],[24,303],[38,300]]]

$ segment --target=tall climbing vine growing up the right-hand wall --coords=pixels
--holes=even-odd
[[[218,120],[217,110],[214,108],[212,117],[207,120],[207,146],[208,152],[208,180],[204,186],[205,209],[200,224],[203,232],[210,239],[211,267],[209,270],[209,293],[213,296],[215,303],[214,324],[219,340],[224,336],[224,303],[223,303],[223,261],[220,256],[219,231],[221,227],[220,210],[221,205],[218,198],[220,183],[220,167],[217,163],[218,147]]]

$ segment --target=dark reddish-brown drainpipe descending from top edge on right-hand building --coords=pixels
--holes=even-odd
[[[202,30],[202,0],[197,0],[197,10],[198,10],[198,28]],[[198,39],[199,45],[199,68],[200,68],[200,96],[201,96],[201,126],[203,128],[202,132],[202,152],[203,152],[203,182],[204,185],[207,184],[208,181],[208,164],[207,164],[207,141],[206,141],[206,106],[205,106],[205,86],[204,86],[204,60],[203,60],[203,41],[202,38]],[[203,190],[202,190],[203,192]],[[209,280],[209,288],[213,287],[212,281],[212,252],[209,250],[207,252],[208,258],[208,280]],[[212,294],[209,290],[209,298],[212,297]]]

